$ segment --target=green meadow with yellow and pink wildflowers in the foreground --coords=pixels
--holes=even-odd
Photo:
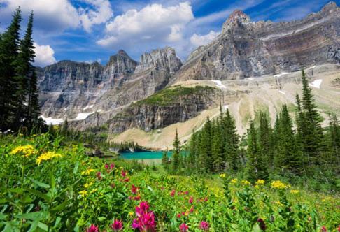
[[[319,231],[339,226],[339,198],[286,182],[167,175],[89,158],[49,134],[0,140],[0,230]],[[89,230],[91,231],[91,230]],[[325,231],[325,230],[324,230]]]

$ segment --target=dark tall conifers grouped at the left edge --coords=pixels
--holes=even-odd
[[[32,40],[33,13],[20,38],[20,8],[0,34],[0,131],[31,131],[43,125],[38,104],[38,86]],[[22,130],[23,131],[23,130]]]

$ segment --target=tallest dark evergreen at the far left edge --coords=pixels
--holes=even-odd
[[[10,26],[1,36],[0,43],[0,130],[13,128],[20,98],[15,62],[20,48],[21,10],[17,8]]]

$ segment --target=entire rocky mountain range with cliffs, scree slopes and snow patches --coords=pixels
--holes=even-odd
[[[74,129],[101,128],[111,142],[133,140],[155,150],[171,147],[176,129],[188,140],[207,116],[219,115],[220,104],[240,134],[259,110],[273,124],[283,103],[294,108],[302,69],[327,125],[327,113],[340,115],[340,8],[334,2],[292,22],[252,22],[235,10],[221,34],[186,61],[166,47],[139,61],[120,50],[105,66],[65,60],[36,68],[46,122],[67,119]]]

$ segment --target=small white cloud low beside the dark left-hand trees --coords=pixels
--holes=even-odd
[[[57,62],[55,59],[55,51],[50,47],[50,45],[38,45],[34,43],[34,52],[36,52],[36,57],[34,59],[34,65],[44,67]]]

